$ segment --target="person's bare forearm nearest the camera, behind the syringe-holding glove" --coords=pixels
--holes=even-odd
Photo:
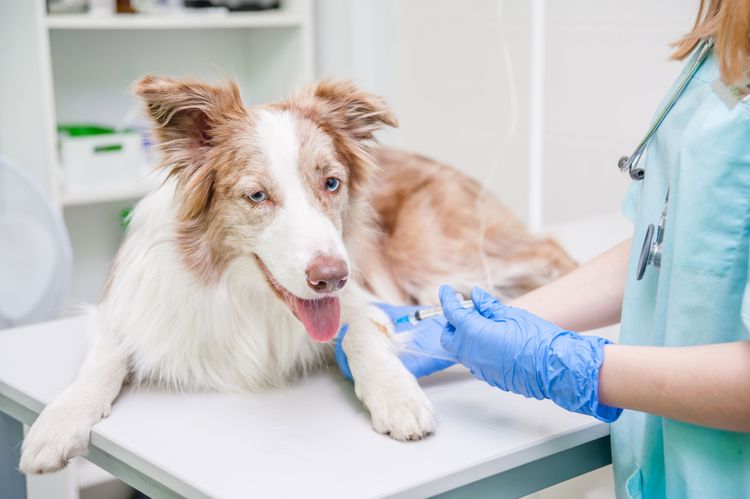
[[[693,347],[607,345],[599,400],[688,423],[750,432],[750,341]]]

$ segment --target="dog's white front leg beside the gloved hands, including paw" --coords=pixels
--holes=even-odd
[[[430,401],[381,331],[390,321],[376,306],[345,310],[349,331],[343,348],[354,377],[354,390],[379,433],[396,440],[419,440],[435,430]]]

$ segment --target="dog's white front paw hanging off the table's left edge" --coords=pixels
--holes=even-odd
[[[39,415],[23,441],[20,468],[24,473],[58,471],[84,454],[91,422],[65,405],[51,405]]]

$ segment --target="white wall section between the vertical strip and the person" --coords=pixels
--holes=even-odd
[[[617,169],[679,73],[696,0],[546,2],[543,220],[619,210]]]

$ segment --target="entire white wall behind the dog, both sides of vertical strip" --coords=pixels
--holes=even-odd
[[[617,159],[640,140],[679,72],[668,44],[691,26],[697,0],[543,3],[537,208],[549,225],[619,210],[629,181]],[[490,187],[528,217],[532,2],[318,0],[317,18],[318,75],[352,77],[389,99],[401,127],[385,143],[480,180],[498,165]],[[499,151],[513,104],[517,127]]]

